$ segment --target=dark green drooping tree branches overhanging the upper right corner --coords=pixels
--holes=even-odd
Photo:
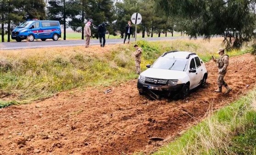
[[[155,0],[167,17],[182,17],[192,38],[222,35],[226,48],[240,48],[254,36],[256,0]]]

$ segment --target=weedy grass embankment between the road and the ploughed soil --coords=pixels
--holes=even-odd
[[[204,61],[209,61],[211,55],[217,56],[221,43],[222,39],[137,42],[143,49],[142,70],[169,50],[194,51]],[[0,107],[29,103],[73,88],[137,78],[133,44],[0,51]],[[233,50],[228,55],[246,52],[248,50]]]

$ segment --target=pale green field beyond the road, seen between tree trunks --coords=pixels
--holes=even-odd
[[[61,35],[62,35],[62,38],[60,38],[60,40],[63,40],[63,33],[61,33]],[[173,37],[178,37],[178,36],[181,36],[181,33],[173,33]],[[5,42],[7,42],[7,37],[8,36],[5,35]],[[158,34],[154,34],[153,37],[154,38],[158,37]],[[161,33],[161,37],[165,37],[165,34]],[[172,33],[167,33],[167,37],[172,37]],[[142,38],[142,34],[141,33],[137,34],[137,38]],[[150,37],[145,36],[145,38],[150,38]],[[82,39],[82,33],[68,32],[66,34],[66,39],[67,40]],[[96,39],[96,38],[93,38],[93,39]],[[113,36],[113,35],[106,34],[106,39],[121,39],[121,36],[120,35]],[[11,42],[12,41],[16,41],[16,40],[11,39]]]

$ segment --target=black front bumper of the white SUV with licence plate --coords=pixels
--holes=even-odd
[[[177,84],[175,86],[157,86],[149,83],[142,83],[139,79],[137,83],[137,88],[141,93],[146,92],[148,90],[156,90],[157,92],[162,92],[163,94],[169,92],[178,92],[183,88],[183,86],[184,83]]]

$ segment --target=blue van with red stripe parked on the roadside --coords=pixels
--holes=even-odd
[[[53,39],[57,41],[61,38],[61,25],[59,21],[39,21],[29,20],[20,24],[11,33],[11,39],[21,42],[24,39],[34,41],[34,39]]]

